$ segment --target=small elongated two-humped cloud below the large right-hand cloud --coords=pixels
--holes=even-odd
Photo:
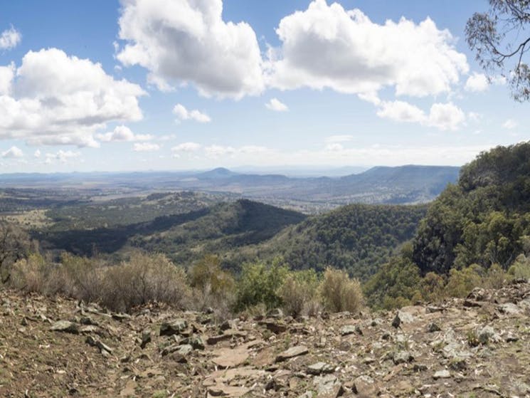
[[[440,130],[457,130],[465,122],[465,113],[453,103],[435,103],[428,114],[415,105],[404,101],[381,103],[379,117],[397,122],[415,122]]]

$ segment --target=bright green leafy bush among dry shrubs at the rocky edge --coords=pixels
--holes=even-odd
[[[280,288],[289,273],[289,268],[275,260],[265,263],[245,263],[241,269],[236,290],[236,310],[244,310],[263,303],[267,309],[282,305]]]

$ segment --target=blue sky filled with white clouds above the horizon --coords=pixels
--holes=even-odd
[[[0,2],[0,173],[459,166],[529,140],[487,1]]]

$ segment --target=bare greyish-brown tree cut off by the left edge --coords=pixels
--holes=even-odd
[[[29,236],[22,229],[0,221],[0,281],[6,283],[13,263],[25,257],[30,246]]]

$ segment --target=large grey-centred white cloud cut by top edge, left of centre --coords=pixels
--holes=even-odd
[[[222,0],[122,0],[117,52],[124,66],[149,70],[161,90],[194,83],[202,95],[242,98],[263,91],[253,28],[225,22]]]

